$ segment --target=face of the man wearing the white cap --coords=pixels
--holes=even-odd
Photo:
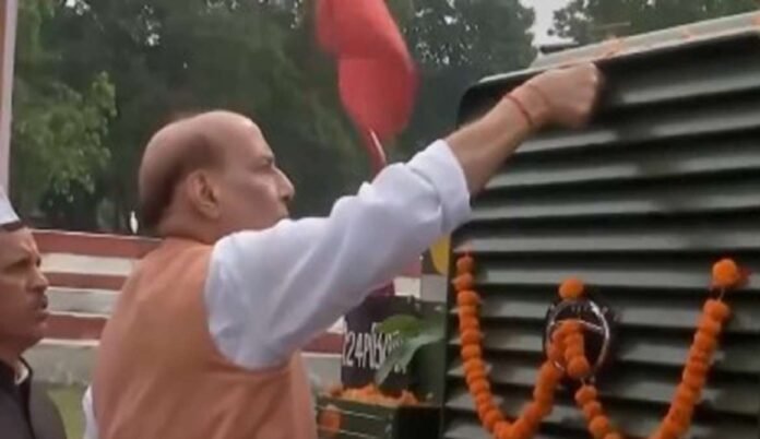
[[[27,228],[0,232],[0,344],[24,351],[45,336],[48,282]]]

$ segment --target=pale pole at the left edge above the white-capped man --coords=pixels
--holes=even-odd
[[[8,188],[17,0],[0,0],[0,186]]]

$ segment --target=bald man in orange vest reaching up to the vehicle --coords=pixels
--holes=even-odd
[[[143,156],[140,202],[164,239],[103,333],[88,437],[316,438],[299,348],[463,224],[471,194],[527,135],[584,123],[598,84],[591,64],[543,73],[328,217],[299,221],[287,218],[293,185],[250,119],[213,111],[162,129]]]

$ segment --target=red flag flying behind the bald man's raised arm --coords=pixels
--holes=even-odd
[[[319,0],[317,8],[317,35],[336,58],[341,100],[373,162],[381,157],[384,164],[382,147],[373,150],[408,122],[417,88],[414,61],[384,0]]]

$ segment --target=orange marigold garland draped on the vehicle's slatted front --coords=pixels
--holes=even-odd
[[[483,332],[478,319],[480,297],[474,289],[474,269],[475,261],[472,256],[460,257],[456,260],[456,277],[453,284],[456,292],[464,377],[483,427],[496,439],[530,439],[535,435],[542,419],[551,413],[555,390],[567,375],[583,383],[575,392],[575,402],[583,412],[592,437],[621,439],[622,435],[605,415],[604,406],[598,401],[598,391],[593,384],[585,382],[585,378],[591,373],[591,365],[584,353],[583,325],[572,319],[562,321],[551,335],[547,359],[541,366],[534,387],[533,401],[514,422],[504,417],[494,399],[488,371],[483,360]],[[712,356],[717,347],[717,336],[731,316],[731,308],[723,301],[723,296],[728,289],[739,286],[746,276],[733,260],[724,259],[713,265],[712,278],[712,289],[719,295],[708,299],[702,308],[681,382],[677,387],[667,415],[650,439],[677,439],[689,429],[694,406],[701,398]],[[584,294],[585,286],[578,278],[567,280],[559,287],[559,295],[565,300],[578,300]]]

